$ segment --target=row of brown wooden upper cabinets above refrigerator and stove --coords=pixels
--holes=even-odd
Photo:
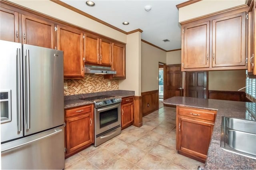
[[[67,79],[83,78],[84,63],[112,67],[117,74],[106,78],[125,79],[125,44],[8,1],[0,1],[0,40],[64,51]]]

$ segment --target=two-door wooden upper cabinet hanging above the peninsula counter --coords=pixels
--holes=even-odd
[[[246,11],[182,25],[182,71],[246,69]]]

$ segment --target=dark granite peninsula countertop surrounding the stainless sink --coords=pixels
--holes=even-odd
[[[246,102],[192,97],[172,97],[166,105],[186,106],[217,111],[204,169],[256,169],[256,160],[220,148],[222,116],[245,119]]]

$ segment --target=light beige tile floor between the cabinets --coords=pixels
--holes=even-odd
[[[98,147],[65,160],[65,169],[197,169],[201,162],[176,151],[176,108],[161,107]]]

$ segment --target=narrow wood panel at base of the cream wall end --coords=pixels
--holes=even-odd
[[[134,96],[134,126],[142,126],[142,96]]]

